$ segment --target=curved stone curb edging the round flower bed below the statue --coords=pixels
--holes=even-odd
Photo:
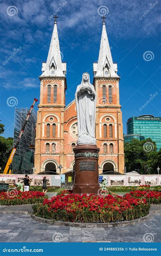
[[[150,212],[145,217],[141,217],[139,219],[131,220],[131,221],[123,221],[123,222],[110,222],[110,223],[74,223],[74,222],[63,222],[63,221],[53,221],[43,219],[31,213],[31,218],[35,221],[39,221],[47,224],[54,224],[56,226],[68,226],[68,227],[120,227],[120,226],[128,226],[135,225],[150,219],[153,215],[153,212]]]

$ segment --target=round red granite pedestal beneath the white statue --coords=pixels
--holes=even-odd
[[[99,185],[99,151],[92,144],[81,144],[73,149],[75,153],[75,180],[73,193],[97,194]]]

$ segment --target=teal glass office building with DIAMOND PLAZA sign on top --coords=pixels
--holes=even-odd
[[[139,134],[145,139],[156,142],[157,150],[161,148],[161,117],[153,115],[133,116],[127,120],[127,134]]]

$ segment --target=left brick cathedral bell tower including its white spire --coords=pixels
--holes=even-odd
[[[64,109],[66,63],[61,61],[61,52],[55,23],[47,62],[42,63],[40,79],[40,104],[38,105],[35,174],[59,173],[59,164],[64,161]]]

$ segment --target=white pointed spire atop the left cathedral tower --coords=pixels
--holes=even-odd
[[[61,62],[61,52],[59,47],[59,38],[57,32],[57,22],[54,17],[54,29],[51,38],[50,48],[48,52],[48,58],[46,63],[42,63],[42,75],[41,76],[65,76],[66,63]]]

